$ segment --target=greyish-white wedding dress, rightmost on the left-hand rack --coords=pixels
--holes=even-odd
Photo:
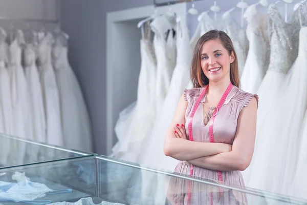
[[[55,39],[52,50],[59,89],[64,146],[92,152],[92,130],[89,113],[78,83],[68,61],[68,48]]]

